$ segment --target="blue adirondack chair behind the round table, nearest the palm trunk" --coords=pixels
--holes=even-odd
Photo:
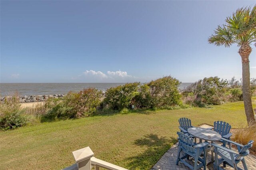
[[[231,125],[224,122],[224,121],[214,121],[214,128],[213,130],[218,132],[222,138],[230,140],[232,133],[229,133],[231,129]],[[223,146],[226,147],[226,142],[220,140],[223,143]],[[228,143],[229,149],[231,149],[231,143]]]

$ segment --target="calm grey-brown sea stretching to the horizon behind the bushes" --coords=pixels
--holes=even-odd
[[[15,91],[20,95],[49,95],[67,94],[69,91],[78,92],[83,88],[94,87],[106,91],[110,87],[119,86],[125,83],[0,83],[1,96],[11,96]],[[191,83],[182,83],[180,88]]]

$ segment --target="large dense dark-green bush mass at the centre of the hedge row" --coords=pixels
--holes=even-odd
[[[171,76],[159,78],[147,84],[127,83],[110,88],[106,91],[104,100],[114,110],[131,108],[166,108],[182,104],[178,86],[180,81]]]

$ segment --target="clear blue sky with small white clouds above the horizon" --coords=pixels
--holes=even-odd
[[[255,1],[0,1],[0,82],[182,82],[242,77],[238,47],[208,44]],[[256,48],[250,55],[256,77]]]

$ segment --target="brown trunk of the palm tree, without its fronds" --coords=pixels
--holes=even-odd
[[[242,84],[243,84],[243,100],[244,109],[246,114],[246,119],[248,125],[256,125],[256,120],[254,117],[254,111],[252,108],[252,99],[250,91],[250,64],[249,55],[252,51],[250,45],[242,45],[238,51],[242,58]]]

